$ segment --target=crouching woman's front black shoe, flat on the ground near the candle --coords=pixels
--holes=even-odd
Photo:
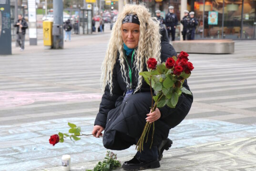
[[[142,171],[145,169],[159,168],[160,163],[156,161],[140,161],[136,156],[130,161],[124,161],[122,168],[126,171]]]

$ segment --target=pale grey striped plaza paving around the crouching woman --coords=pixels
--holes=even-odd
[[[63,154],[71,154],[72,171],[102,161],[107,149],[101,138],[55,146],[48,140],[59,131],[67,133],[67,122],[91,132],[109,38],[108,32],[74,37],[62,50],[44,49],[39,41],[0,56],[0,171],[61,171]],[[236,41],[235,46],[235,54],[190,54],[194,103],[170,131],[174,144],[154,171],[256,169],[256,41]],[[132,146],[113,152],[123,162],[136,151]]]

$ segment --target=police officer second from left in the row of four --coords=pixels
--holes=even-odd
[[[170,33],[172,34],[172,41],[175,40],[175,29],[178,24],[178,19],[176,14],[174,14],[174,7],[169,7],[169,12],[165,16],[165,25],[167,27],[168,37],[170,38]]]

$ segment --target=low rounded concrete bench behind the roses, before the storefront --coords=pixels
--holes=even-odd
[[[176,52],[205,54],[229,54],[235,51],[235,42],[229,39],[218,40],[185,40],[172,42]]]

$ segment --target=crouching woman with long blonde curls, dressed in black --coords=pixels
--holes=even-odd
[[[107,149],[124,150],[136,144],[146,122],[154,122],[153,145],[143,144],[132,160],[123,163],[124,170],[144,170],[160,167],[164,149],[172,141],[169,130],[188,114],[193,97],[181,94],[175,108],[167,105],[150,113],[150,86],[139,75],[147,71],[146,61],[154,57],[164,62],[176,56],[169,44],[167,31],[143,5],[125,5],[113,26],[105,59],[102,64],[104,94],[96,116],[92,134],[102,136]],[[183,86],[189,90],[187,82]]]

